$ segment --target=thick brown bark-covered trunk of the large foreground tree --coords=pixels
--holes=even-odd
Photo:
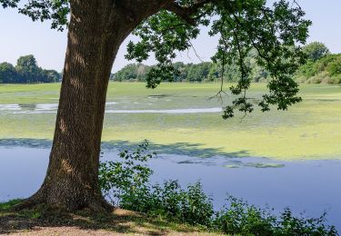
[[[111,2],[77,1],[71,5],[48,170],[41,189],[28,202],[69,211],[108,206],[97,181],[105,95],[119,45],[132,30]]]

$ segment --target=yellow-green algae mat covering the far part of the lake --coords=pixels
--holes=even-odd
[[[60,84],[0,85],[0,104],[57,103],[59,89]],[[216,99],[207,99],[217,90],[218,84],[162,84],[147,90],[142,83],[111,83],[107,101],[116,103],[111,109],[124,110],[219,107]],[[249,97],[258,99],[265,92],[265,84],[253,84]],[[288,111],[255,112],[242,123],[242,114],[224,121],[220,113],[107,113],[103,141],[140,143],[148,139],[189,154],[195,146],[198,156],[210,150],[207,153],[212,155],[286,161],[340,159],[341,87],[304,84],[300,93],[304,102]],[[54,126],[55,114],[0,111],[0,139],[51,140]]]

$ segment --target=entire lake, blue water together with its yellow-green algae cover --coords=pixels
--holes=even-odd
[[[327,219],[341,231],[341,87],[305,84],[303,103],[224,121],[228,104],[208,99],[219,84],[110,83],[103,160],[147,139],[158,158],[153,182],[200,180],[224,205],[226,194],[275,211]],[[230,84],[226,84],[226,87]],[[25,198],[44,180],[60,84],[0,84],[0,201]],[[255,101],[265,84],[252,84]]]

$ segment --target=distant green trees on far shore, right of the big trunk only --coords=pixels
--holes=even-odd
[[[294,77],[299,83],[328,83],[341,84],[341,54],[330,54],[325,44],[311,43],[304,47],[308,60],[302,65]],[[251,67],[253,82],[268,80],[269,74],[256,64],[256,52],[253,51],[247,57],[247,64]],[[179,72],[174,75],[175,82],[214,82],[221,79],[221,67],[219,64],[205,62],[201,64],[175,63]],[[153,67],[145,64],[127,64],[123,69],[111,75],[113,81],[145,81],[146,74]],[[224,80],[236,82],[240,73],[236,64],[229,64],[225,70]]]

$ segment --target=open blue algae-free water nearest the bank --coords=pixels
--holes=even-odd
[[[0,146],[0,202],[28,197],[39,188],[48,153],[46,147]],[[103,159],[115,160],[116,154],[106,150]],[[150,165],[155,171],[153,182],[178,179],[186,185],[200,180],[217,209],[229,193],[276,211],[287,206],[297,213],[305,211],[306,216],[327,211],[328,222],[341,231],[341,161],[273,162],[159,153]]]

